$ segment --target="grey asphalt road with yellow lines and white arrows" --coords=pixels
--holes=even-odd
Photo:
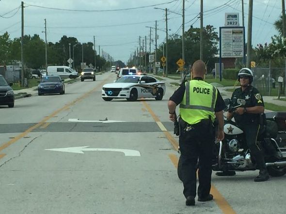
[[[0,214],[284,214],[286,176],[216,177],[215,200],[185,206],[178,138],[162,101],[101,99],[114,73],[66,85],[64,95],[0,107]]]

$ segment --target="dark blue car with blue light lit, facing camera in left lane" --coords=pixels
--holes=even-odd
[[[38,85],[38,95],[45,93],[65,93],[64,80],[60,76],[45,76]]]

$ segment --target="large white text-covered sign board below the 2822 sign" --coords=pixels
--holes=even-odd
[[[222,58],[244,57],[244,27],[220,27],[220,52]]]

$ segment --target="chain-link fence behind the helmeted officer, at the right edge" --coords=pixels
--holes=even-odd
[[[285,95],[286,68],[252,68],[254,81],[253,86],[264,96]],[[279,78],[280,77],[280,78]],[[283,82],[281,81],[283,77]]]

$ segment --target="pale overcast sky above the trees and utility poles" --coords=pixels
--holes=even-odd
[[[156,4],[158,5],[153,6]],[[0,16],[0,35],[8,31],[12,39],[21,36],[21,10],[16,9],[20,5],[21,0],[0,0],[0,15],[6,17]],[[46,18],[48,42],[58,42],[63,35],[66,35],[76,37],[80,43],[86,43],[93,42],[93,36],[95,36],[97,53],[100,46],[100,49],[109,53],[115,61],[123,62],[127,62],[130,53],[139,47],[139,36],[147,37],[147,51],[149,50],[150,28],[146,26],[155,27],[155,20],[157,20],[157,27],[165,30],[165,12],[156,10],[154,7],[168,8],[178,14],[182,13],[182,0],[24,0],[24,5],[26,6],[24,9],[25,34],[39,34],[45,40],[45,33],[42,31],[44,31]],[[142,8],[128,10],[136,7]],[[219,8],[215,9],[216,7]],[[100,12],[100,10],[116,9],[126,10]],[[94,12],[88,12],[91,10]],[[12,12],[6,14],[10,11]],[[213,25],[219,31],[219,27],[224,26],[224,14],[233,12],[239,13],[240,26],[242,26],[241,0],[204,0],[204,11],[208,11],[204,14],[204,26]],[[200,0],[185,0],[185,31],[191,24],[195,28],[200,27],[200,20],[197,18],[199,12]],[[254,0],[253,46],[270,42],[270,37],[278,34],[273,23],[279,18],[281,12],[281,0]],[[247,28],[248,0],[244,0],[244,13]],[[177,32],[181,35],[181,24],[182,16],[168,13],[169,34]],[[166,34],[164,31],[157,31],[157,33],[158,44],[160,44],[164,41]],[[152,30],[151,38],[155,39],[155,30]],[[151,44],[151,50],[154,47],[155,42]]]

